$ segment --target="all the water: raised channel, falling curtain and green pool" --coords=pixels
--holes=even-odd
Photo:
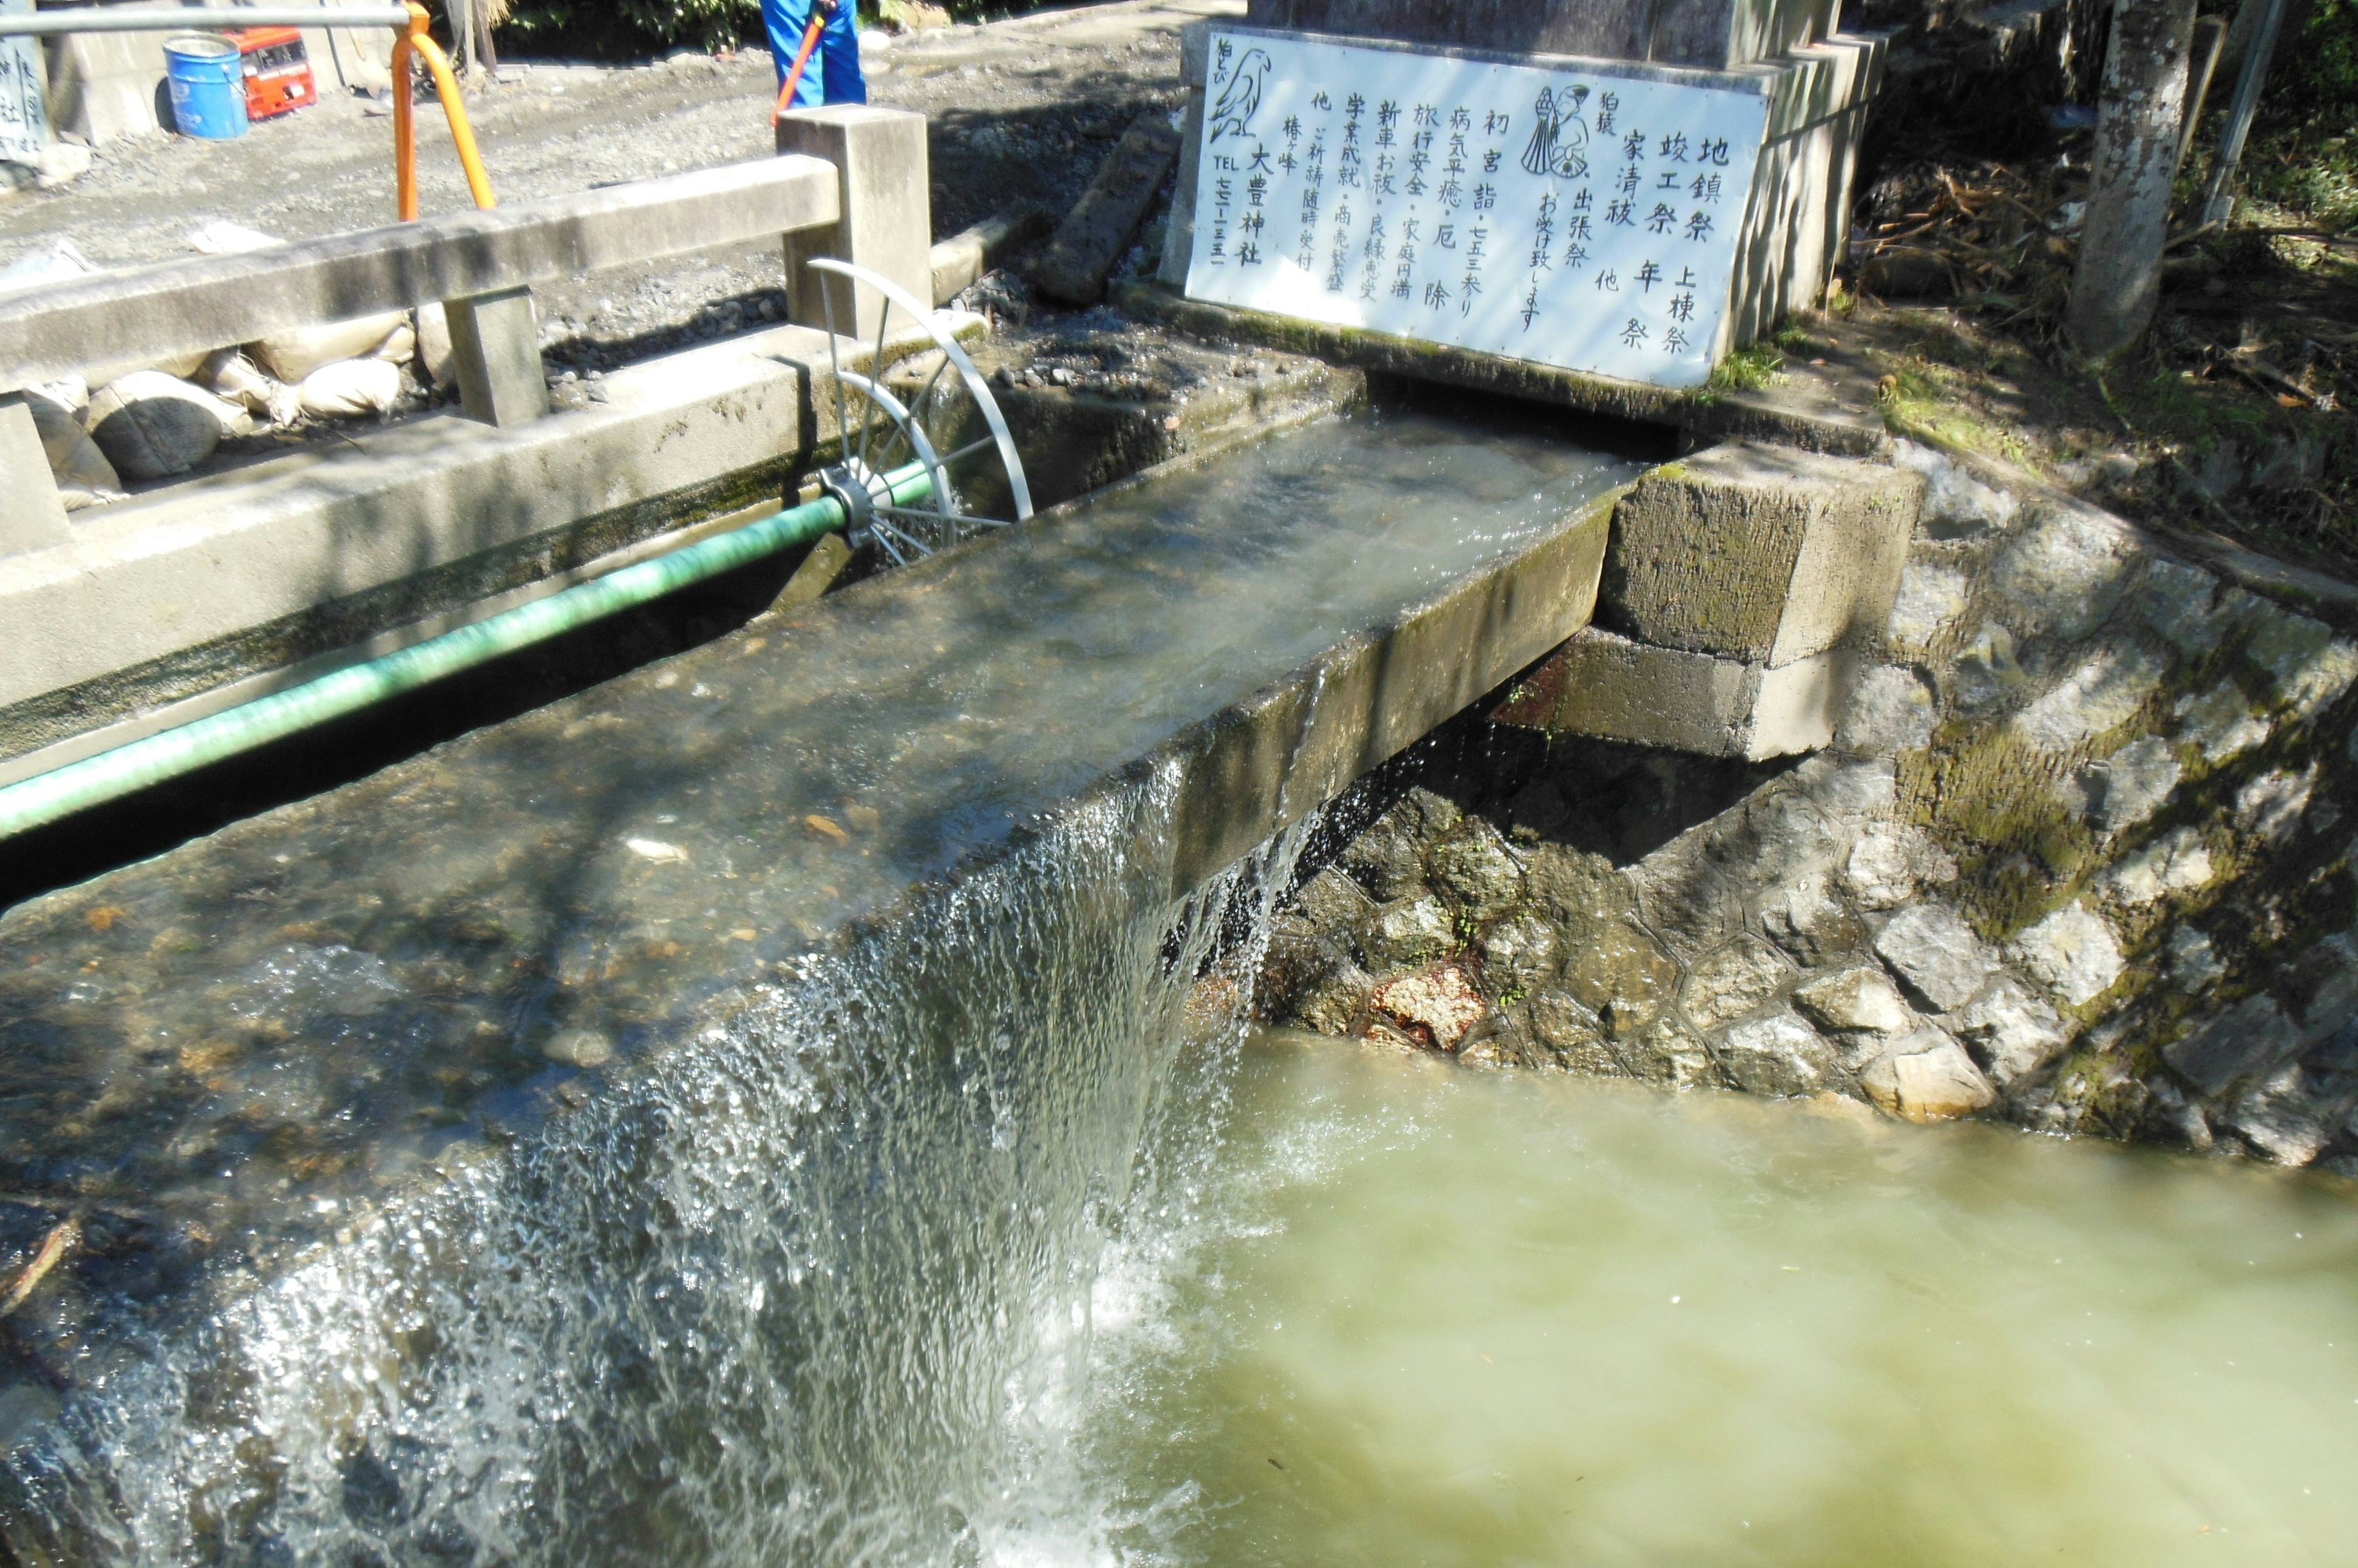
[[[1245,1026],[1316,821],[1191,887],[1155,747],[1594,526],[1566,434],[1313,424],[9,910],[0,1537],[2334,1561],[2320,1186]]]

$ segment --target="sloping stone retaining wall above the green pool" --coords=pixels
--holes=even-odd
[[[1929,502],[1830,747],[1469,714],[1302,887],[1264,1009],[2358,1174],[2358,641],[2094,507],[1898,462]]]

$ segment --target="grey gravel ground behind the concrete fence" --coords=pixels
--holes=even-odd
[[[934,233],[1014,203],[1063,212],[1122,127],[1179,104],[1179,24],[1240,0],[1122,0],[875,40],[870,101],[931,123]],[[771,151],[766,54],[677,54],[639,66],[523,61],[469,87],[467,111],[505,200],[710,167]],[[420,205],[467,205],[434,101],[420,104]],[[191,255],[231,219],[278,238],[389,222],[391,120],[330,99],[238,141],[149,137],[97,151],[80,182],[0,207],[0,266],[68,238],[99,266]],[[776,245],[613,269],[542,290],[552,373],[592,370],[719,335],[783,304]],[[1005,292],[1000,304],[1014,304]],[[1028,318],[1028,311],[1021,311]]]

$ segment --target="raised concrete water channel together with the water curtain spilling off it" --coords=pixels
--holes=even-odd
[[[1217,1120],[1247,849],[1585,618],[1634,472],[1330,422],[9,913],[0,1181],[90,1238],[9,1544],[971,1556]]]

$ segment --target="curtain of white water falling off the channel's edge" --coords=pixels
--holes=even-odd
[[[974,1561],[993,1476],[1073,1405],[1106,1236],[1184,1203],[1217,1139],[1302,842],[1174,910],[1172,799],[1073,811],[149,1344],[66,1405],[64,1450],[19,1452],[42,1547]]]

